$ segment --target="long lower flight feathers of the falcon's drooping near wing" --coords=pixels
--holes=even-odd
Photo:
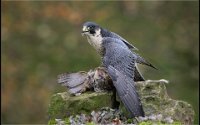
[[[117,93],[126,109],[133,117],[144,116],[142,104],[134,87],[132,78],[127,78],[113,66],[108,66],[108,73],[110,74]]]

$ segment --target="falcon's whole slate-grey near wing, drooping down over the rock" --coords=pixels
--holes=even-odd
[[[139,96],[134,87],[135,57],[129,49],[121,47],[115,40],[112,38],[104,40],[103,64],[126,109],[132,116],[144,116]]]

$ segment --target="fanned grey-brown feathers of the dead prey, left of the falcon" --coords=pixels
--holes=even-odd
[[[68,88],[74,88],[80,84],[83,84],[87,79],[88,75],[86,72],[77,73],[64,73],[58,75],[58,83],[67,86]]]

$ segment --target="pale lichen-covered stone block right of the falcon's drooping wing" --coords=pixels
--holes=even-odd
[[[141,97],[145,115],[162,114],[163,118],[171,117],[174,121],[192,124],[194,110],[190,104],[171,99],[166,90],[166,80],[147,80],[137,82],[137,91]]]

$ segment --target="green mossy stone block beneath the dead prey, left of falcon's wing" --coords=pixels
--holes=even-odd
[[[79,96],[70,95],[68,92],[54,94],[49,104],[48,114],[50,119],[65,118],[75,114],[89,114],[105,106],[111,106],[111,93],[87,92]]]

